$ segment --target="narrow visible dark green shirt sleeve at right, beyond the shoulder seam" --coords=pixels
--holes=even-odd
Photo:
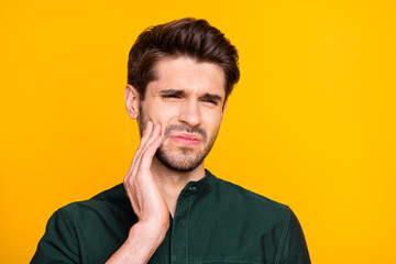
[[[276,264],[310,264],[307,243],[296,215],[289,209]]]

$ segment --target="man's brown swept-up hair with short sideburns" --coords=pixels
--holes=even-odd
[[[145,89],[155,80],[155,64],[169,56],[187,56],[219,65],[226,76],[226,99],[240,78],[237,48],[206,20],[186,18],[146,29],[132,46],[128,61],[128,84],[144,100]]]

